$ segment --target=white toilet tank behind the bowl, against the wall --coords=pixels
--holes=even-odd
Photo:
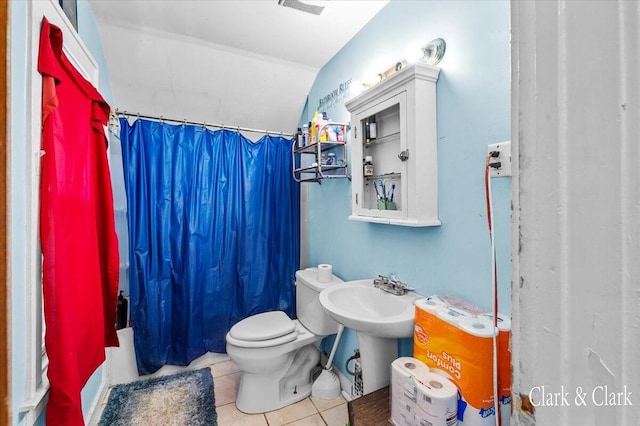
[[[318,336],[338,332],[338,323],[320,304],[320,292],[327,287],[343,282],[335,275],[331,281],[318,281],[318,268],[307,268],[296,272],[296,311],[298,320],[307,330]]]

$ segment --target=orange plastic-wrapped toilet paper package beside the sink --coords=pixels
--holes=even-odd
[[[495,425],[493,336],[498,330],[491,319],[458,299],[437,296],[417,301],[415,312],[413,356],[458,387],[459,424]],[[507,365],[510,369],[510,360]],[[501,397],[504,385],[498,386]]]

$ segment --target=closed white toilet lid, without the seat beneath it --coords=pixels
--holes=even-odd
[[[237,340],[263,341],[291,334],[295,329],[295,323],[287,314],[273,311],[243,319],[231,327],[229,335]]]

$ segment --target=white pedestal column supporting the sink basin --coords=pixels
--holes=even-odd
[[[362,363],[364,395],[389,386],[391,363],[398,358],[398,339],[373,337],[356,332]]]

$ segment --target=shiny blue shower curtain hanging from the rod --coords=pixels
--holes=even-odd
[[[121,118],[138,370],[225,352],[239,320],[295,315],[291,140]]]

